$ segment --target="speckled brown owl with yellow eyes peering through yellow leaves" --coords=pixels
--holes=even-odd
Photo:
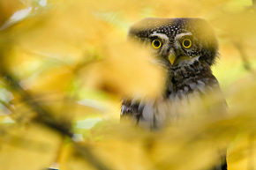
[[[145,18],[131,26],[128,39],[149,50],[156,67],[167,73],[158,99],[124,99],[121,119],[132,118],[139,126],[159,129],[190,113],[194,100],[220,93],[211,66],[218,57],[215,33],[201,18]],[[224,98],[213,106],[226,109]],[[226,161],[214,169],[227,169]]]

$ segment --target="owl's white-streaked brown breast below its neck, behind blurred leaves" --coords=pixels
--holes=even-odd
[[[175,70],[169,72],[162,97],[155,100],[125,100],[122,115],[132,115],[135,121],[150,128],[162,127],[193,115],[193,107],[202,97],[218,86],[216,78],[207,70]]]

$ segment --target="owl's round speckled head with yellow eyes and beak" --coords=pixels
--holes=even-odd
[[[128,38],[142,42],[169,68],[195,61],[211,66],[217,55],[215,33],[201,18],[145,18],[131,27]]]

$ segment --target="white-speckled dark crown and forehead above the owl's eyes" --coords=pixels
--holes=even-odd
[[[202,35],[208,28],[207,22],[201,18],[145,18],[133,25],[129,34],[144,38],[152,33],[164,33],[173,38],[180,33]]]

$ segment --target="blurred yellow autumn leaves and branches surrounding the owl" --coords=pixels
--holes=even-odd
[[[147,17],[215,28],[228,115],[156,132],[119,124],[123,96],[162,91],[162,70],[126,42]],[[230,170],[254,170],[255,68],[252,0],[0,0],[0,167],[199,170],[228,148]]]

